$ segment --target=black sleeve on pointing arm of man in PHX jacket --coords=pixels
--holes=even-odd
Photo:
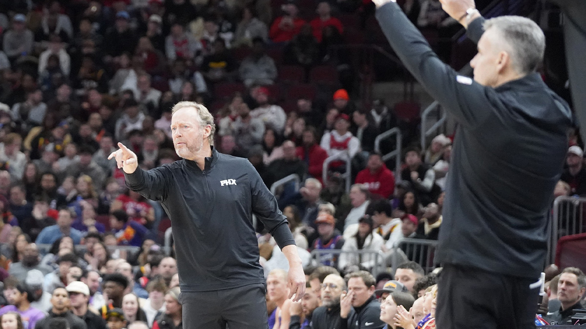
[[[145,198],[163,201],[169,193],[168,175],[171,174],[165,166],[145,171],[137,167],[134,173],[124,173],[126,186]]]

